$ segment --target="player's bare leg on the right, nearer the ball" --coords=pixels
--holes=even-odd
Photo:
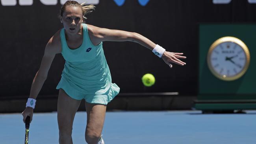
[[[103,129],[107,106],[85,102],[85,107],[87,112],[85,140],[88,144],[97,144]]]

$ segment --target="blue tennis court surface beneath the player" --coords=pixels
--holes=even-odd
[[[201,114],[201,111],[114,111],[106,113],[106,144],[255,144],[256,111]],[[0,114],[1,144],[24,143],[22,115]],[[77,112],[72,138],[85,144],[86,113]],[[35,113],[29,144],[58,144],[57,113]]]

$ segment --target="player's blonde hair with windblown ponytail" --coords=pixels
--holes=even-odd
[[[78,2],[74,1],[74,0],[68,0],[67,2],[65,2],[65,4],[63,4],[63,6],[60,9],[60,13],[59,13],[59,18],[62,17],[65,9],[67,6],[78,6],[82,8],[83,11],[83,22],[85,22],[85,20],[87,19],[87,17],[85,17],[85,15],[87,15],[88,13],[91,13],[93,10],[95,10],[95,6],[91,5],[86,5],[85,2],[83,2],[82,4],[79,4]]]

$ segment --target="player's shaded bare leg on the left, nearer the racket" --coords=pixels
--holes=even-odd
[[[72,126],[74,116],[81,100],[70,98],[63,89],[59,89],[58,96],[58,126],[59,126],[59,144],[73,144]]]

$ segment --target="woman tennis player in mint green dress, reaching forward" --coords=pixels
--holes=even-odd
[[[161,46],[134,32],[109,30],[85,24],[85,15],[95,9],[93,5],[67,1],[60,11],[64,28],[57,31],[45,47],[41,66],[35,74],[22,112],[23,120],[33,117],[35,102],[56,54],[61,53],[65,66],[56,89],[58,96],[59,144],[72,144],[72,125],[80,102],[85,99],[87,125],[85,140],[88,144],[104,144],[101,137],[106,105],[119,93],[120,88],[111,83],[109,67],[104,56],[103,41],[132,41],[152,50],[172,68],[172,63],[186,65],[183,53],[167,52]],[[31,121],[30,121],[31,122]]]

